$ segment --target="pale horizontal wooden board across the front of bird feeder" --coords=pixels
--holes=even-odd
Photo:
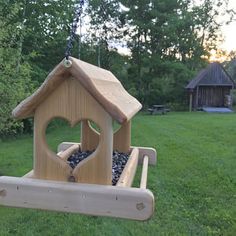
[[[147,220],[154,197],[146,189],[2,176],[0,205]]]

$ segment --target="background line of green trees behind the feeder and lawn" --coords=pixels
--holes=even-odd
[[[144,107],[168,103],[184,108],[184,87],[206,65],[209,52],[221,40],[221,24],[234,13],[225,0],[194,2],[86,1],[81,59],[111,70]],[[14,121],[11,111],[64,57],[78,3],[0,0],[0,137],[30,126],[29,121]],[[225,22],[219,22],[222,14]],[[128,55],[118,53],[120,46]],[[73,56],[78,57],[77,47]],[[230,71],[235,74],[235,66]]]

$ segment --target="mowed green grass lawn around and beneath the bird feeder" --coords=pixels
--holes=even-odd
[[[47,138],[55,148],[77,137],[64,126]],[[0,207],[0,235],[236,235],[236,114],[140,114],[132,144],[158,152],[158,165],[148,172],[155,195],[150,220]],[[29,171],[32,145],[32,136],[0,142],[0,175]],[[140,167],[135,184],[139,178]]]

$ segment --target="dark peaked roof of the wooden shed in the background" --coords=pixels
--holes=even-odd
[[[206,69],[201,70],[197,76],[189,82],[187,89],[197,86],[234,86],[232,78],[217,62],[211,63]]]

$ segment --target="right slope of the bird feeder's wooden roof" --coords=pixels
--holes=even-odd
[[[70,72],[120,124],[130,120],[142,105],[132,97],[110,72],[71,58]]]

